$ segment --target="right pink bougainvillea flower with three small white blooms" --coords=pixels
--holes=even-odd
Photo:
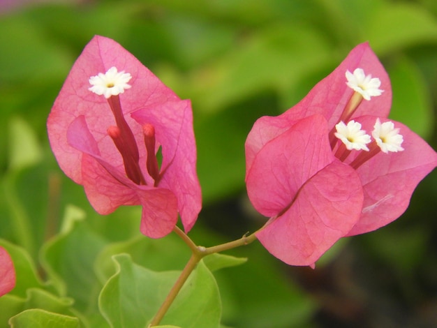
[[[340,237],[403,214],[437,154],[387,119],[391,98],[387,73],[362,43],[297,105],[255,122],[246,140],[246,188],[255,209],[270,217],[256,232],[270,253],[313,265]]]

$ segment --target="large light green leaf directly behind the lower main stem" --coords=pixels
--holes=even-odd
[[[114,328],[146,327],[163,303],[179,272],[155,272],[115,255],[117,273],[101,292],[99,306]],[[200,262],[163,318],[184,328],[219,327],[221,302],[211,272]]]

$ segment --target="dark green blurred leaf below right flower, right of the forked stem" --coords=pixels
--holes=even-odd
[[[287,276],[292,268],[270,255],[260,243],[235,249],[249,261],[217,271],[223,295],[223,323],[230,327],[300,328],[311,324],[316,303]],[[317,264],[316,264],[317,266]]]

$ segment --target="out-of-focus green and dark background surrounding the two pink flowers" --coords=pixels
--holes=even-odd
[[[0,237],[36,261],[66,204],[84,209],[105,242],[138,234],[138,209],[98,216],[47,142],[54,98],[95,34],[193,102],[204,204],[191,232],[198,244],[262,225],[245,195],[247,133],[258,117],[297,103],[358,43],[369,40],[390,75],[392,119],[437,146],[434,0],[0,0],[0,10]],[[258,243],[230,252],[249,262],[216,274],[223,325],[437,327],[436,214],[432,172],[398,221],[344,239],[316,270],[288,267]],[[181,269],[185,255],[156,269]]]

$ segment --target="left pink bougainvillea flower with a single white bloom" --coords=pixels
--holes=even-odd
[[[201,194],[191,103],[114,40],[95,36],[84,48],[47,131],[59,166],[98,213],[140,204],[140,230],[153,238],[171,232],[178,213],[186,232],[193,227]]]

